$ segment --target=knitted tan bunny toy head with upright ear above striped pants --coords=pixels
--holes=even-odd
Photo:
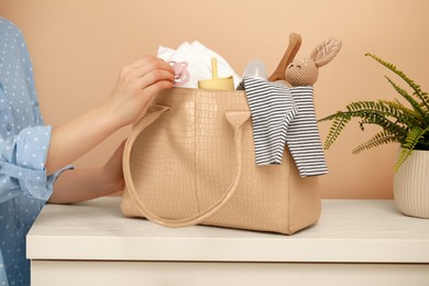
[[[312,86],[319,76],[319,67],[331,62],[341,46],[341,41],[331,37],[318,45],[310,57],[295,59],[286,67],[286,81],[293,87]]]

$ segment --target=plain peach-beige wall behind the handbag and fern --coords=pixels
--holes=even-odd
[[[428,11],[427,0],[0,0],[0,15],[26,37],[42,111],[53,125],[102,102],[122,65],[156,54],[158,45],[194,40],[221,54],[239,74],[253,58],[274,70],[290,32],[302,36],[298,56],[330,36],[342,40],[342,51],[315,86],[318,118],[351,100],[393,98],[386,70],[364,57],[367,52],[394,62],[428,90]],[[322,138],[328,129],[329,123],[320,124]],[[76,165],[102,164],[128,131]],[[324,197],[392,197],[397,146],[351,154],[372,134],[354,123],[326,152]]]

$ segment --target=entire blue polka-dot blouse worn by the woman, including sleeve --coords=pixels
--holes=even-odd
[[[51,130],[23,36],[0,18],[0,286],[30,285],[25,235],[59,174],[46,176]]]

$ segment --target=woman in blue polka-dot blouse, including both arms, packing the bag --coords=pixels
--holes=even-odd
[[[122,68],[103,105],[63,125],[44,125],[22,34],[0,18],[1,286],[30,285],[25,235],[46,201],[76,202],[123,188],[123,145],[99,168],[68,164],[132,123],[173,81],[168,64],[146,56]]]

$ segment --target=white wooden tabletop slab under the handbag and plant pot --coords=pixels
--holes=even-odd
[[[429,263],[429,220],[392,200],[323,200],[293,235],[216,227],[168,229],[124,218],[119,197],[46,205],[28,234],[31,260]]]

